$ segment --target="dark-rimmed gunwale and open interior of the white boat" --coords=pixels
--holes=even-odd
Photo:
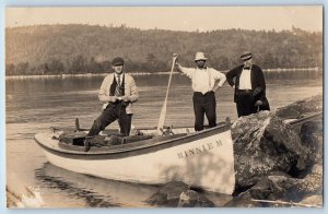
[[[206,136],[210,136],[216,133],[224,132],[230,130],[230,126],[221,124],[220,127],[214,127],[211,129],[206,129],[200,132],[195,132],[194,128],[175,128],[172,129],[172,133],[167,135],[159,135],[156,130],[140,130],[142,135],[131,135],[131,136],[116,136],[113,135],[113,130],[107,130],[101,133],[101,136],[108,139],[107,145],[94,145],[91,146],[90,151],[85,152],[83,144],[74,145],[71,143],[65,143],[59,141],[59,135],[62,131],[38,133],[35,135],[35,141],[47,150],[57,151],[59,153],[69,153],[69,154],[114,154],[114,153],[124,153],[131,151],[139,151],[143,148],[159,146],[160,148],[166,146],[174,146],[190,141],[200,140]],[[77,135],[81,132],[77,132]],[[85,131],[82,133],[86,134]],[[113,140],[114,139],[114,140]],[[113,143],[115,142],[115,143]]]

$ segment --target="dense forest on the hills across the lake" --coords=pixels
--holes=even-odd
[[[129,72],[165,72],[172,54],[195,67],[197,51],[208,64],[225,71],[241,63],[250,50],[263,69],[323,68],[323,33],[292,31],[221,29],[173,32],[121,25],[36,25],[5,28],[5,74],[104,73],[114,57],[126,59]]]

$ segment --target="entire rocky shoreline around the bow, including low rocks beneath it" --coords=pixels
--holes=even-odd
[[[323,95],[232,126],[236,185],[225,207],[323,207],[323,117],[295,129],[285,121],[323,112]],[[215,207],[201,192],[172,181],[147,200],[169,207]]]

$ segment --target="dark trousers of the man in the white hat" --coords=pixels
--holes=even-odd
[[[216,127],[216,102],[214,92],[208,92],[204,95],[200,92],[195,92],[192,102],[195,111],[195,130],[203,130],[204,115],[208,118],[209,127]]]

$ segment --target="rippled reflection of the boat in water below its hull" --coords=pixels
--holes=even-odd
[[[75,174],[49,163],[35,169],[42,188],[60,190],[61,194],[84,200],[90,207],[147,207],[144,201],[157,191],[155,186],[128,183]]]

